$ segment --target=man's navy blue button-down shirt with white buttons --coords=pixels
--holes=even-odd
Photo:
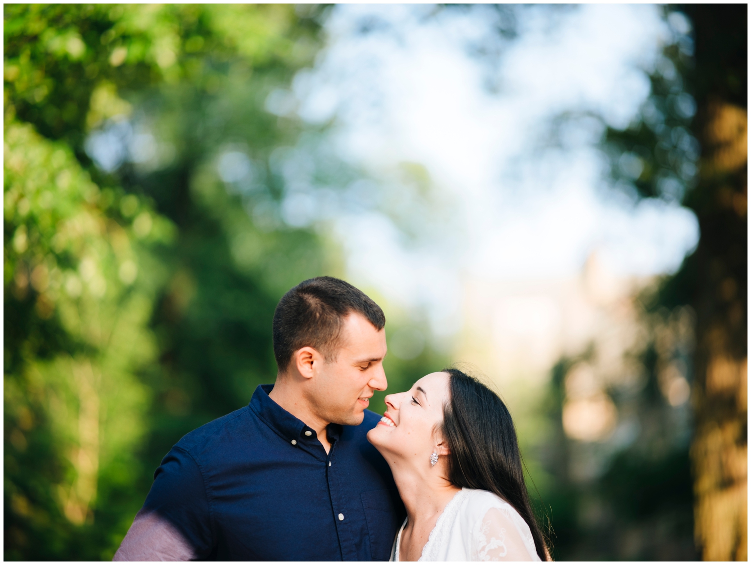
[[[258,386],[248,406],[173,446],[116,559],[128,558],[126,545],[170,536],[194,559],[389,559],[405,511],[365,437],[379,416],[365,410],[360,425],[330,424],[326,453],[312,428],[269,398],[272,388]],[[171,533],[155,536],[149,524],[165,521]]]

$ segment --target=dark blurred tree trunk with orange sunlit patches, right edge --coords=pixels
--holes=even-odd
[[[701,240],[684,267],[697,314],[695,539],[704,560],[746,560],[746,5],[683,9],[695,27],[702,146],[699,182],[686,200]]]

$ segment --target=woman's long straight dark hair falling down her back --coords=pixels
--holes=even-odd
[[[451,401],[443,409],[443,438],[448,442],[448,479],[452,484],[497,494],[524,518],[540,559],[547,545],[532,512],[524,483],[514,422],[495,392],[458,369],[451,376]]]

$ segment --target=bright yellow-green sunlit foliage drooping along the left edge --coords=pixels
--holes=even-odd
[[[101,200],[65,143],[6,123],[6,557],[35,536],[49,542],[35,551],[65,551],[68,524],[85,524],[98,489],[112,509],[107,491],[129,488],[139,469],[149,392],[135,373],[155,344],[153,285],[134,284],[136,233],[159,242],[172,230],[147,211],[149,233],[120,224]]]

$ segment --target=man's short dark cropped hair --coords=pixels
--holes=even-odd
[[[289,290],[274,311],[274,356],[279,372],[287,371],[292,354],[302,347],[312,347],[327,362],[336,359],[342,320],[353,312],[362,314],[379,331],[386,325],[379,305],[338,278],[309,278]]]

